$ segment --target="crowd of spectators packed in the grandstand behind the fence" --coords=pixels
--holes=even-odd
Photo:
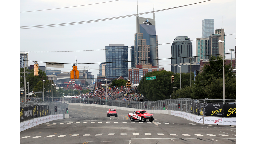
[[[139,101],[142,96],[136,93],[137,87],[126,88],[124,86],[102,88],[92,90],[86,94],[80,94],[73,98],[92,98],[92,99],[111,99],[111,100],[123,100],[123,101]]]

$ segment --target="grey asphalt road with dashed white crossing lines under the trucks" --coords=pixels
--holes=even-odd
[[[235,144],[236,126],[205,125],[165,114],[131,122],[128,113],[107,117],[106,108],[69,105],[68,119],[20,132],[20,144]]]

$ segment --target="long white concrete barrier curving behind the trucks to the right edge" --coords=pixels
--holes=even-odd
[[[117,109],[117,110],[131,111],[131,112],[138,110],[138,109],[134,109],[134,108],[97,105],[97,104],[69,103],[69,105],[102,107],[102,108],[107,108],[107,109]],[[148,113],[152,113],[152,114],[174,115],[174,116],[185,118],[185,119],[190,120],[195,123],[215,124],[215,125],[236,125],[236,118],[204,117],[204,116],[198,116],[198,115],[187,113],[187,112],[174,111],[174,110],[146,110],[146,111]],[[106,113],[107,113],[107,111],[106,111]],[[127,115],[128,115],[128,113],[127,113]]]

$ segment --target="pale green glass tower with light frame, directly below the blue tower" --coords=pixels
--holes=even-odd
[[[209,59],[209,38],[196,38],[196,62],[200,59]]]

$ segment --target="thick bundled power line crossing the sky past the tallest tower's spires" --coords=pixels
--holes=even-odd
[[[207,1],[211,1],[211,0],[207,0]],[[207,1],[203,1],[203,2],[207,2]],[[173,8],[167,8],[167,9],[161,9],[161,10],[156,10],[156,11],[144,12],[144,13],[139,13],[138,15],[149,14],[149,13],[154,13],[154,12],[160,12],[160,11],[165,11],[165,10],[185,7],[185,6],[189,6],[189,5],[199,4],[199,3],[203,3],[203,2],[198,2],[198,3],[193,3],[193,4],[178,6],[178,7],[173,7]],[[59,24],[48,24],[48,25],[34,25],[34,26],[21,26],[20,29],[45,28],[45,27],[56,27],[56,26],[67,26],[67,25],[75,25],[75,24],[84,24],[84,23],[92,23],[92,22],[100,22],[100,21],[106,21],[106,20],[113,20],[113,19],[132,17],[132,16],[136,16],[136,15],[137,14],[131,14],[131,15],[125,15],[125,16],[118,16],[118,17],[111,17],[111,18],[104,18],[104,19],[97,19],[97,20],[89,20],[89,21],[70,22],[70,23],[59,23]]]

